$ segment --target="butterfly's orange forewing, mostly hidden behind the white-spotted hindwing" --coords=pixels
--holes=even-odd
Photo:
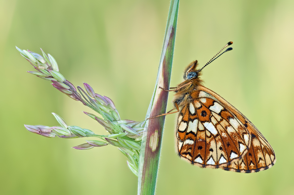
[[[242,123],[242,126],[250,133],[250,144],[248,152],[244,155],[239,161],[232,162],[222,167],[222,169],[227,171],[235,172],[258,172],[272,167],[275,164],[275,152],[270,146],[265,137],[260,133],[260,131],[235,107],[230,105],[218,94],[213,91],[199,86],[199,97],[208,97],[212,98],[214,101],[222,105],[226,110],[230,112],[239,122]]]

